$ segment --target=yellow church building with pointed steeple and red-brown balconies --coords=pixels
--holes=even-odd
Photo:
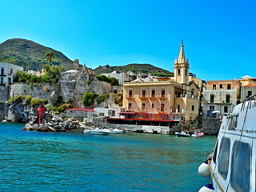
[[[123,113],[126,118],[186,121],[198,117],[200,87],[190,82],[190,64],[182,43],[174,62],[174,78],[137,78],[123,85]]]

